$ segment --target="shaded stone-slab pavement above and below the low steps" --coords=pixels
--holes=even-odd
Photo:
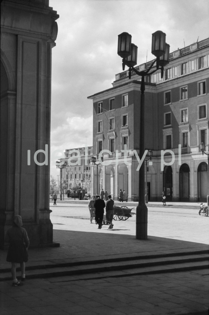
[[[27,266],[54,262],[130,257],[208,250],[203,243],[148,236],[137,240],[130,234],[95,229],[87,220],[74,219],[80,231],[55,230],[60,247],[29,249]],[[84,223],[86,222],[86,223]],[[88,223],[89,224],[89,223]],[[130,223],[131,224],[131,223]],[[78,229],[78,230],[79,230]],[[99,232],[100,231],[100,232]],[[112,231],[113,232],[113,231]],[[1,268],[6,250],[1,252]],[[27,279],[23,286],[0,282],[1,315],[208,315],[209,270],[147,275],[98,277],[98,274]],[[18,273],[20,275],[20,273]],[[101,272],[102,275],[102,272]]]

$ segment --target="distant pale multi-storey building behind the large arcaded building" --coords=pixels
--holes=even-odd
[[[60,159],[60,162],[66,161],[67,165],[60,174],[62,179],[68,181],[68,188],[84,182],[90,176],[92,154],[92,146],[65,150],[65,158]]]

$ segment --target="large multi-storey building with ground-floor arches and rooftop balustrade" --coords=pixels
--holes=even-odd
[[[148,69],[152,61],[138,66]],[[93,154],[102,154],[99,185],[114,197],[120,189],[138,200],[140,77],[128,70],[116,74],[112,88],[89,96],[93,100]],[[160,70],[146,77],[145,148],[153,151],[147,166],[149,200],[205,201],[208,147],[209,38],[169,55]],[[127,150],[124,150],[126,149]],[[145,164],[145,163],[144,163]],[[152,164],[152,165],[151,165]],[[92,166],[92,194],[96,167]],[[98,186],[99,186],[98,185]],[[98,187],[99,189],[99,187]]]

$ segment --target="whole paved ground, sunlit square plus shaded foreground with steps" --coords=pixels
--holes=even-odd
[[[29,250],[18,291],[3,264],[2,314],[208,313],[209,218],[196,203],[148,203],[148,239],[138,240],[137,203],[126,203],[133,215],[115,216],[110,230],[105,221],[101,229],[90,223],[88,202],[50,201],[59,247]]]

